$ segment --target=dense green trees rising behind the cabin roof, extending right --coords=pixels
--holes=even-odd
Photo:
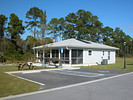
[[[121,57],[124,55],[124,42],[127,42],[126,53],[133,55],[133,38],[119,27],[103,27],[98,17],[89,11],[80,9],[64,18],[53,18],[48,23],[48,30],[54,41],[76,38],[118,47],[117,56]]]

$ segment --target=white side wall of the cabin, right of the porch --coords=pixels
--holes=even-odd
[[[89,55],[89,50],[92,50],[92,55]],[[103,55],[104,51],[104,55]],[[115,51],[114,50],[94,50],[94,49],[84,49],[83,50],[83,64],[101,64],[102,59],[108,59],[108,51],[110,51],[110,60],[108,63],[115,63]]]

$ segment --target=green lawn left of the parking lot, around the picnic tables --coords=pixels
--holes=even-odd
[[[24,70],[27,70],[25,67]],[[35,69],[42,69],[35,67]],[[40,85],[10,76],[4,72],[18,71],[17,66],[0,66],[0,97],[37,91]]]

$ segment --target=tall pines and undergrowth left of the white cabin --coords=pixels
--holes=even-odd
[[[53,42],[45,35],[46,11],[33,7],[27,11],[26,18],[24,26],[23,21],[14,13],[10,14],[9,21],[5,15],[0,15],[0,62],[27,61],[28,57],[34,54],[34,46]],[[33,36],[27,36],[23,40],[21,34],[24,34],[26,29],[33,33]]]

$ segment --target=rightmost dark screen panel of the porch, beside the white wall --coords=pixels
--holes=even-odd
[[[72,64],[83,64],[83,50],[72,50]]]

